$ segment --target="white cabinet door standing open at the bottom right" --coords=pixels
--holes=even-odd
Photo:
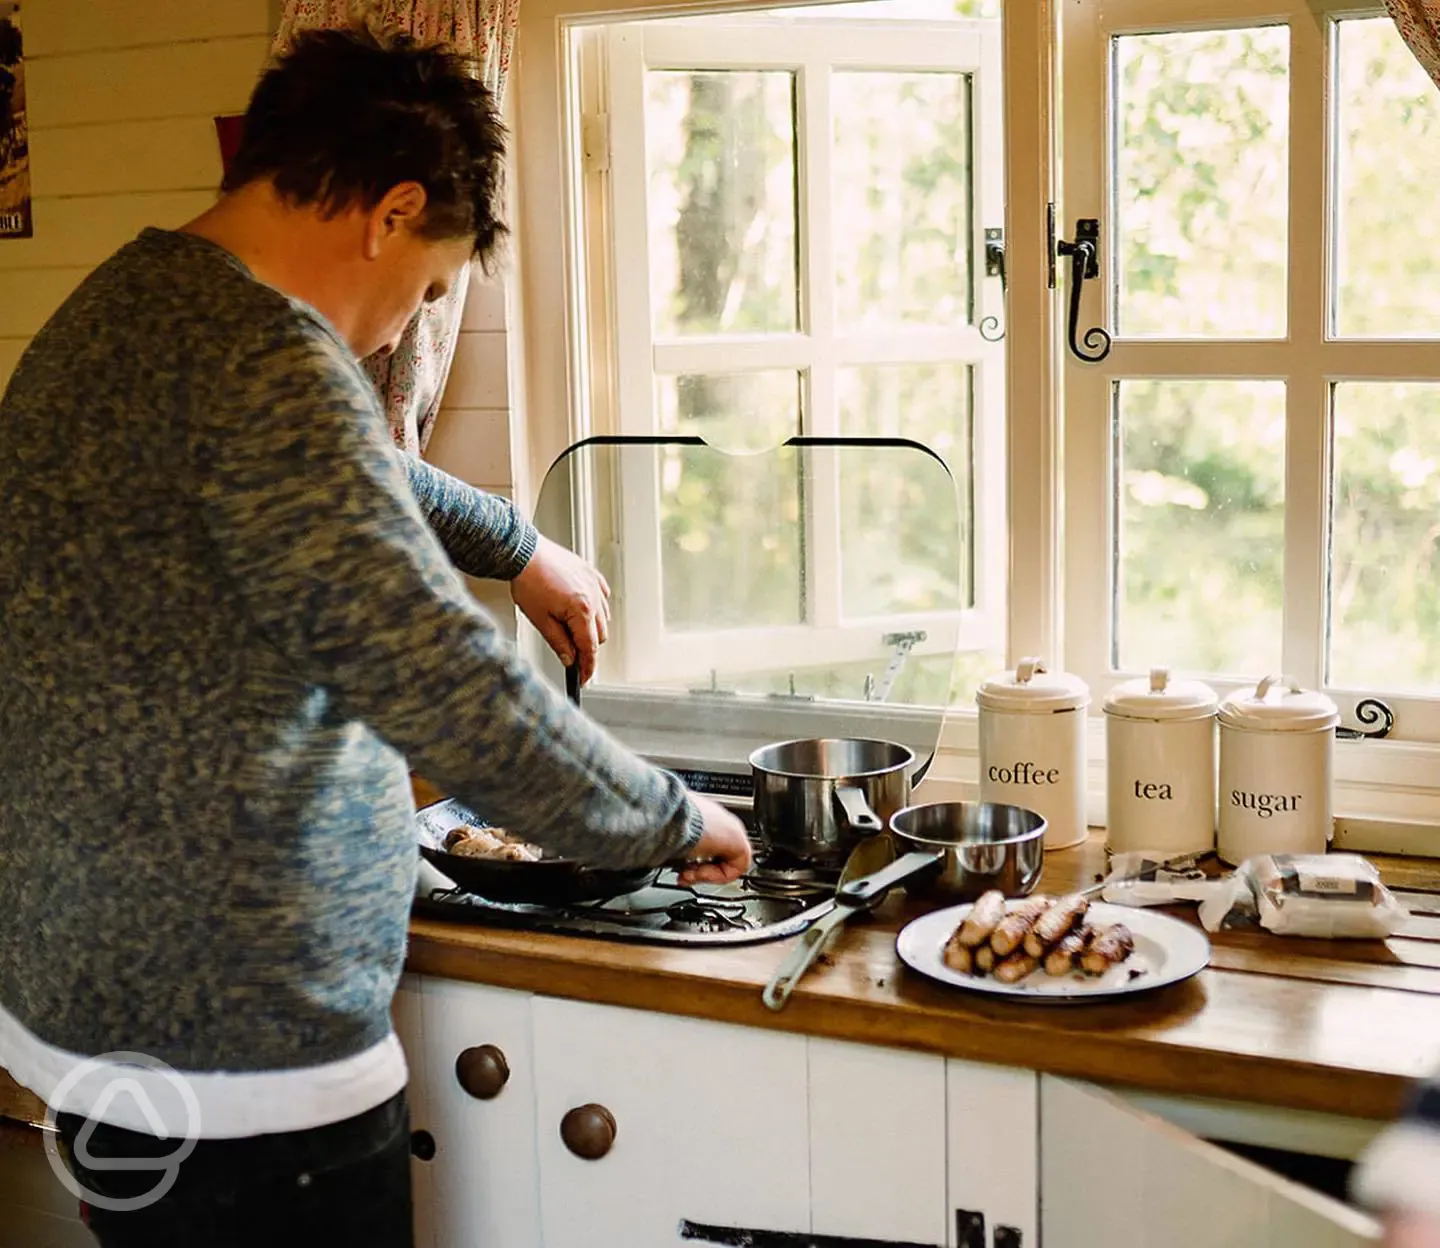
[[[1143,1114],[1041,1077],[1045,1248],[1356,1248],[1362,1213]]]

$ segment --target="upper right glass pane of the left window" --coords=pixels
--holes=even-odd
[[[837,72],[831,210],[841,325],[971,318],[971,81]]]

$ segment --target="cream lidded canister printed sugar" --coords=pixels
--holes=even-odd
[[[1220,707],[1220,836],[1225,862],[1323,854],[1339,713],[1325,694],[1266,677]]]

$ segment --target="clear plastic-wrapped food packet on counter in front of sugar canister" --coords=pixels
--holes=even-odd
[[[1410,917],[1358,854],[1261,854],[1223,884],[1200,905],[1207,931],[1259,926],[1276,936],[1384,940]]]

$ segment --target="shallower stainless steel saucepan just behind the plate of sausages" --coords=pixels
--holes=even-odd
[[[932,802],[891,815],[890,832],[897,849],[910,851],[896,867],[912,865],[901,874],[912,897],[975,901],[991,888],[1024,897],[1045,859],[1045,820],[1020,806]]]

